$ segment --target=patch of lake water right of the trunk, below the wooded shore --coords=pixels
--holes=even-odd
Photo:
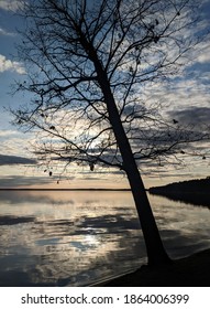
[[[158,195],[150,195],[164,244],[173,257],[210,247],[210,212]]]

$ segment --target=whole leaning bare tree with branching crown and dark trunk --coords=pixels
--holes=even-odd
[[[64,164],[122,170],[130,182],[148,264],[169,262],[139,171],[143,159],[177,153],[200,139],[167,122],[145,85],[176,74],[194,44],[190,0],[37,0],[24,4],[20,57],[33,96],[13,111],[37,134],[36,154]]]

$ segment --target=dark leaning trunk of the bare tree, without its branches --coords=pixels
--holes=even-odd
[[[162,265],[170,262],[170,258],[165,252],[159,232],[146,195],[146,191],[137,169],[130,142],[122,126],[120,115],[107,78],[107,74],[102,67],[98,70],[98,77],[101,89],[107,103],[109,119],[113,128],[113,132],[121,151],[123,160],[123,169],[128,175],[133,199],[135,201],[142,232],[145,239],[148,265]]]

